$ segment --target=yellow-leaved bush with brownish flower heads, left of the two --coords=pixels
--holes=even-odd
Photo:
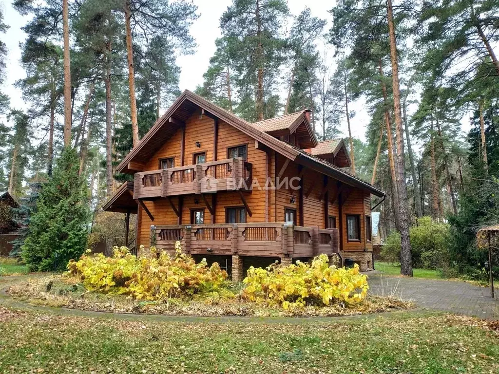
[[[105,257],[87,250],[78,261],[69,261],[68,275],[79,276],[87,290],[142,300],[190,297],[227,286],[227,272],[218,263],[196,263],[181,253],[180,242],[173,257],[165,251],[156,256],[154,247],[151,253],[151,258],[137,258],[127,247],[114,247],[113,257]]]

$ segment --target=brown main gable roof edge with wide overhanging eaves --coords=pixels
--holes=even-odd
[[[381,197],[385,195],[385,193],[378,188],[342,171],[341,169],[328,163],[327,161],[311,155],[291,144],[282,142],[267,134],[266,132],[260,130],[259,127],[262,126],[261,123],[258,126],[254,126],[255,124],[251,124],[250,122],[245,121],[244,119],[236,116],[234,113],[231,113],[213,104],[212,102],[204,99],[199,95],[196,95],[189,90],[185,90],[178,97],[178,99],[175,100],[175,102],[166,111],[166,113],[158,121],[156,121],[156,123],[148,131],[144,138],[141,139],[139,144],[134,149],[132,149],[130,153],[123,159],[120,165],[118,165],[117,170],[122,173],[133,174],[133,170],[128,168],[129,163],[147,162],[161,147],[161,145],[164,144],[165,140],[171,137],[180,128],[182,121],[186,121],[195,112],[195,110],[198,110],[199,107],[202,108],[205,111],[205,114],[207,114],[208,116],[223,120],[224,122],[250,136],[259,144],[261,143],[264,147],[278,152],[280,155],[288,158],[291,161],[301,162],[303,165],[306,165],[309,168],[316,170],[324,175],[335,178],[351,186],[364,188],[370,193],[375,194],[376,196]],[[294,121],[298,121],[303,117],[308,124],[305,112],[306,111],[298,112],[299,115],[297,115],[296,113],[288,115],[290,118],[285,120],[286,123],[289,124],[291,119],[293,118],[293,115],[297,115]],[[270,122],[272,123],[272,121]],[[295,122],[293,122],[293,124],[294,123]],[[282,124],[279,126],[284,125]],[[310,127],[309,124],[308,127]],[[341,142],[344,144],[343,140],[341,140]]]

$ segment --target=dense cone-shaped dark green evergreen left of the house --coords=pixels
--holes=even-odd
[[[78,171],[76,151],[65,147],[52,178],[41,188],[22,246],[22,258],[31,271],[64,270],[85,249],[89,214]]]

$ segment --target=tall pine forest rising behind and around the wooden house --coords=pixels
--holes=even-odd
[[[83,248],[88,227],[104,237],[124,232],[123,217],[99,209],[129,178],[115,167],[180,94],[176,57],[196,50],[198,10],[184,0],[13,6],[29,17],[26,77],[16,85],[30,108],[9,109],[0,95],[11,124],[0,125],[0,190],[36,218],[60,201],[55,188],[37,203],[44,186],[71,180],[74,169],[64,197],[87,210],[76,214],[84,229],[74,228]],[[222,36],[196,92],[250,122],[309,108],[319,141],[346,123],[351,173],[387,193],[380,228],[384,237],[400,233],[402,272],[412,273],[409,232],[423,216],[449,222],[446,262],[466,272],[485,261],[478,228],[498,222],[498,10],[497,1],[339,0],[326,28],[307,7],[290,14],[283,0],[234,0],[217,21]],[[333,65],[319,51],[323,40]],[[2,42],[3,75],[6,53]],[[351,137],[359,103],[370,115],[365,142]],[[66,149],[73,155],[61,157]],[[58,160],[66,166],[55,173]]]

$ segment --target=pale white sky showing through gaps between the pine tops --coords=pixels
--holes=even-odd
[[[180,55],[177,58],[177,63],[181,67],[180,89],[182,91],[185,89],[194,91],[197,85],[202,84],[203,74],[208,68],[210,57],[215,52],[215,39],[221,36],[219,18],[231,2],[232,0],[194,0],[194,3],[198,5],[198,13],[201,14],[191,27],[191,33],[196,39],[198,47],[196,53]],[[332,16],[328,10],[331,9],[333,4],[332,1],[323,0],[288,0],[288,7],[291,14],[298,14],[305,6],[308,6],[312,14],[325,18],[328,21],[325,30],[328,30],[332,23]],[[22,100],[21,91],[14,87],[16,80],[25,77],[24,70],[19,63],[21,56],[19,43],[23,42],[26,38],[26,34],[20,27],[27,22],[27,17],[21,16],[13,9],[10,0],[2,0],[0,6],[3,8],[4,22],[10,26],[6,34],[2,36],[8,48],[6,79],[2,90],[9,95],[12,108],[27,109],[28,106]],[[334,54],[333,47],[324,42],[319,42],[318,48],[321,55],[326,56],[326,64],[332,66],[334,69],[334,62],[332,60],[332,55]],[[284,98],[286,94],[285,89],[283,88],[282,91],[280,94]],[[355,117],[351,120],[352,135],[365,141],[366,125],[370,119],[366,112],[366,105],[363,100],[359,100],[352,103],[350,107],[356,113]],[[167,108],[163,109],[166,110]],[[410,112],[413,109],[410,108]],[[463,130],[467,130],[466,123],[464,127]],[[346,123],[341,124],[339,130],[343,136],[348,134]]]

